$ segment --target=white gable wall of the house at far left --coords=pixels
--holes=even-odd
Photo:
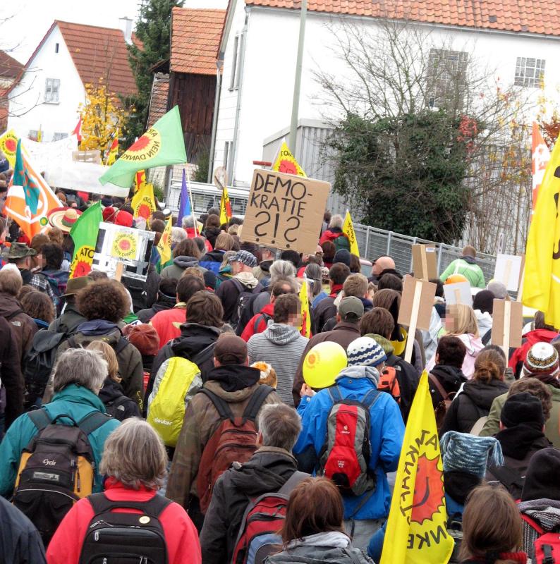
[[[59,52],[55,52],[56,43]],[[47,78],[60,80],[59,103],[44,102]],[[78,106],[85,103],[85,90],[58,26],[44,41],[22,80],[9,94],[8,128],[22,137],[42,130],[42,140],[53,140],[54,133],[67,133],[78,123]]]

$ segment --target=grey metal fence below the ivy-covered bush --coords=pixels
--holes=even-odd
[[[409,237],[393,231],[385,231],[375,227],[354,223],[354,231],[360,248],[360,256],[368,260],[375,260],[381,255],[389,255],[394,259],[396,269],[399,272],[411,272],[412,246],[418,244],[430,245],[437,250],[437,271],[442,272],[450,262],[458,259],[462,255],[461,247],[445,245],[444,243],[434,243],[418,237]],[[477,263],[480,265],[485,278],[489,281],[494,276],[496,257],[477,253]]]

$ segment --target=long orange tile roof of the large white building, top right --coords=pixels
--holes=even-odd
[[[301,7],[300,0],[245,0],[252,6]],[[308,11],[386,17],[486,30],[560,35],[560,4],[542,0],[308,0]]]

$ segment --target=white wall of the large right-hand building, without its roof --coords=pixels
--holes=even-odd
[[[236,116],[237,91],[229,90],[233,59],[233,42],[241,33],[245,20],[243,3],[238,3],[231,35],[224,59],[224,74],[221,87],[221,102],[217,128],[215,166],[223,164],[224,144],[233,140]],[[336,118],[336,111],[325,102],[325,94],[314,78],[320,68],[333,73],[337,78],[348,71],[337,59],[330,47],[334,44],[326,23],[339,22],[339,16],[328,16],[308,12],[305,30],[305,55],[300,94],[300,119]],[[365,25],[375,32],[377,23],[370,18],[347,18],[347,23]],[[546,60],[545,83],[547,94],[556,94],[556,77],[560,76],[560,60],[557,51],[560,38],[544,38],[535,35],[515,35],[504,32],[475,32],[443,26],[426,26],[431,39],[442,47],[458,51],[473,51],[470,64],[496,69],[504,87],[513,84],[518,56]],[[241,94],[241,112],[238,127],[238,146],[233,176],[236,185],[248,185],[255,168],[252,161],[262,158],[263,141],[269,135],[290,124],[295,77],[296,53],[299,31],[299,12],[273,8],[250,8],[247,42]],[[537,98],[538,89],[527,89],[532,99]],[[230,180],[231,181],[231,180]]]

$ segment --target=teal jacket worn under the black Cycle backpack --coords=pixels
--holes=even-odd
[[[80,422],[92,411],[98,410],[105,413],[105,406],[95,393],[78,386],[70,384],[59,391],[52,398],[51,403],[44,405],[50,417],[56,415],[70,415],[75,421]],[[103,491],[102,479],[99,474],[99,462],[103,453],[103,446],[106,438],[114,431],[120,423],[116,419],[108,419],[99,429],[90,434],[88,439],[92,447],[95,459],[95,485],[93,491]],[[20,464],[21,453],[28,446],[31,439],[37,434],[37,427],[32,424],[27,413],[20,415],[11,424],[6,436],[0,444],[0,495],[8,498],[11,496],[13,486],[16,484],[18,467]]]

